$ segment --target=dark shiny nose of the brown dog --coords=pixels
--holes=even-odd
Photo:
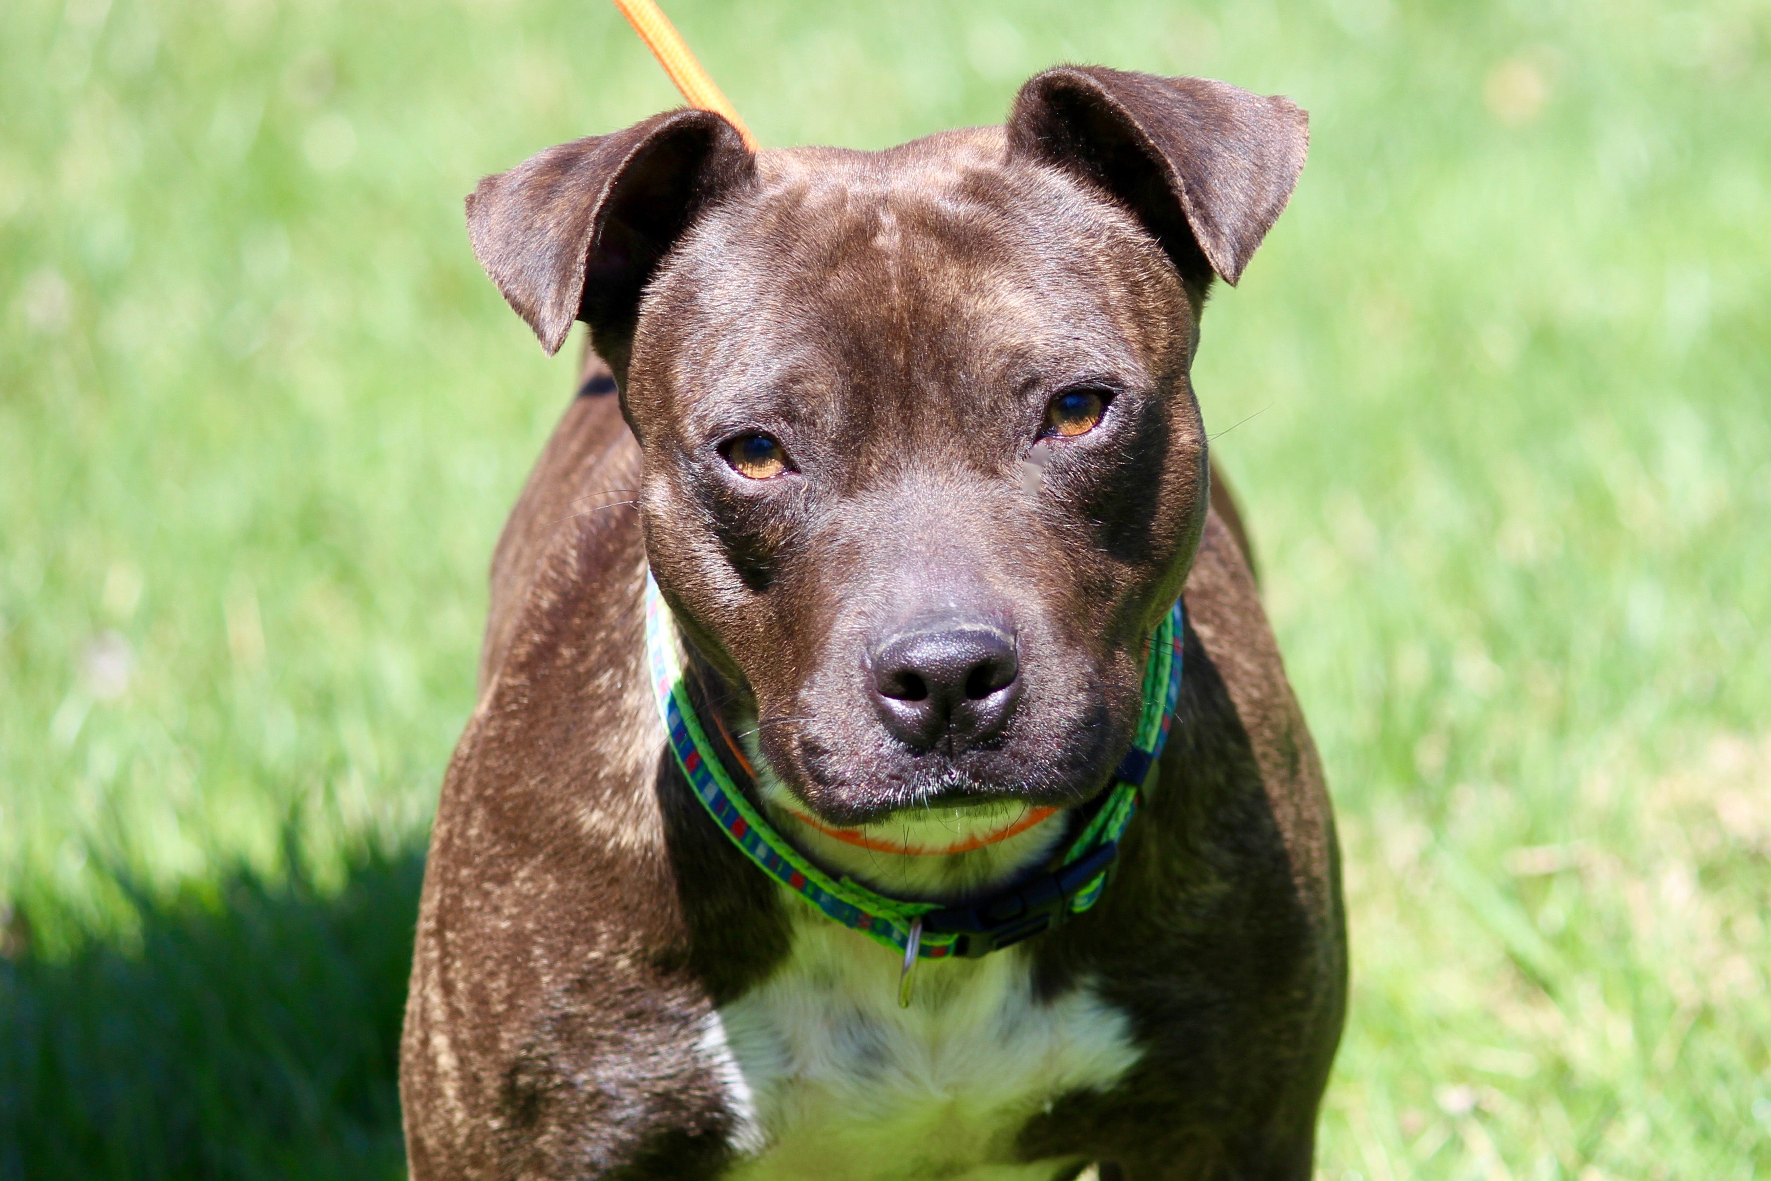
[[[1002,733],[1020,699],[1015,636],[979,623],[917,627],[873,648],[873,706],[912,751],[958,754]]]

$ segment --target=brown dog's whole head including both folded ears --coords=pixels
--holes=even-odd
[[[1206,289],[1305,142],[1286,99],[1052,69],[1004,127],[886,152],[673,112],[468,211],[544,347],[583,319],[613,365],[678,625],[855,825],[1107,783],[1204,526]]]

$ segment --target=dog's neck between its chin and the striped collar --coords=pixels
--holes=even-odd
[[[691,643],[682,643],[696,710],[733,779],[769,823],[832,876],[903,899],[955,903],[1008,885],[1048,861],[1070,825],[1068,809],[1020,800],[971,807],[910,807],[855,827],[822,822],[769,765],[758,742],[754,698]],[[735,747],[735,749],[733,749]],[[742,763],[733,767],[733,763]]]

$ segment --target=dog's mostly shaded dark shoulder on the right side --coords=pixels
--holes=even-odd
[[[1119,876],[1036,949],[1045,988],[1093,977],[1141,1057],[1107,1094],[1034,1117],[1024,1142],[1133,1172],[1192,1162],[1206,1176],[1227,1153],[1289,1176],[1309,1160],[1344,1004],[1334,825],[1241,544],[1215,512],[1185,604],[1181,698]]]

